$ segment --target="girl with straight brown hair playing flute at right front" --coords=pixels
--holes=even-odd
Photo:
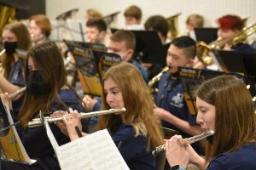
[[[202,130],[214,131],[207,142],[206,159],[183,144],[180,136],[173,136],[166,140],[170,165],[186,167],[190,161],[201,169],[256,169],[256,115],[244,82],[232,76],[203,82],[197,91],[196,107]]]

